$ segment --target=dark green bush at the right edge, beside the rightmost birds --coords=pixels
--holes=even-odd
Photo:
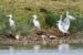
[[[83,31],[82,23],[83,23],[83,16],[82,18],[77,16],[76,20],[72,22],[71,30],[73,30],[74,32]]]

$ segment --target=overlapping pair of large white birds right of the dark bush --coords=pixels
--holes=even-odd
[[[63,34],[69,33],[71,20],[75,20],[75,18],[70,15],[69,11],[66,11],[66,18],[64,20],[62,20],[62,15],[60,16],[60,20],[58,21],[56,25]]]

